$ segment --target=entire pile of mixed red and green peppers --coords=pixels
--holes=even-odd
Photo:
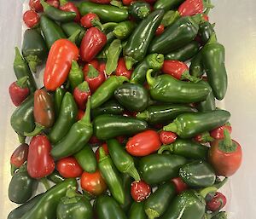
[[[218,189],[242,153],[215,102],[228,80],[210,0],[29,6],[9,86],[8,219],[227,218]]]

